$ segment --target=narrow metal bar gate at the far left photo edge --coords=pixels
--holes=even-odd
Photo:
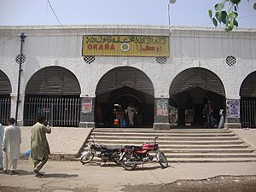
[[[8,125],[8,121],[10,118],[10,107],[10,97],[0,97],[0,123],[2,125]]]

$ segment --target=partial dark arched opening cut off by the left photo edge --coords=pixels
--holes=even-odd
[[[2,125],[8,125],[10,118],[11,92],[12,88],[9,78],[0,70],[0,122]]]

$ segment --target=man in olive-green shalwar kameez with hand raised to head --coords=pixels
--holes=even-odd
[[[31,130],[31,156],[34,161],[34,172],[36,177],[44,174],[39,172],[49,157],[49,143],[46,133],[51,133],[51,129],[43,116],[38,117],[38,122],[32,126]]]

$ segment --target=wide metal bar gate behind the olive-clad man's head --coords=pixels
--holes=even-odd
[[[79,96],[29,96],[25,103],[25,124],[33,125],[44,115],[51,126],[79,126]]]

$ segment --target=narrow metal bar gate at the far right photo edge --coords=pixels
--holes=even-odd
[[[241,126],[256,127],[256,99],[241,99]]]

